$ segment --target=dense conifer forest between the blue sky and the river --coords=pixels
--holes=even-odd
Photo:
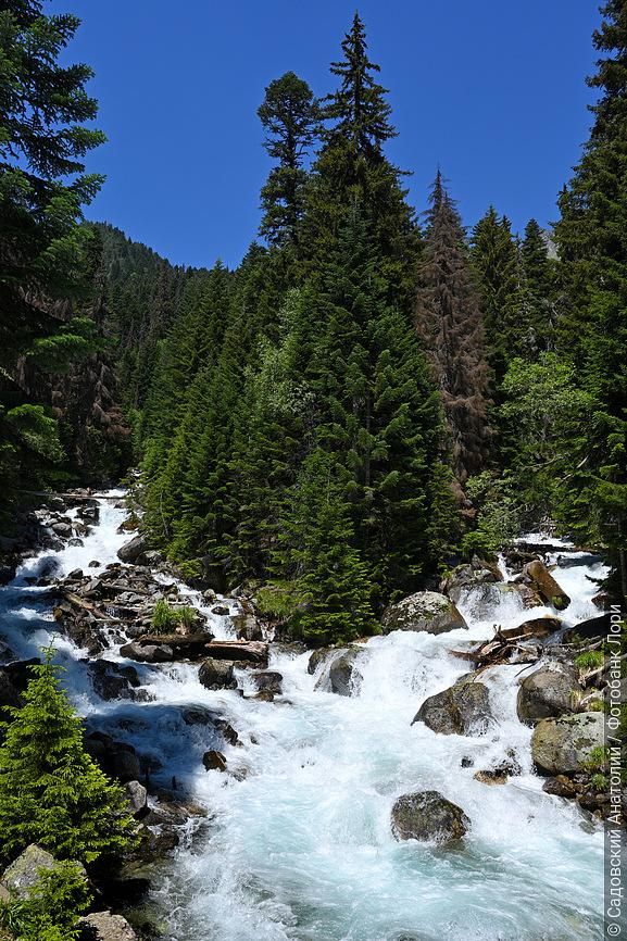
[[[22,49],[33,12],[2,15]],[[3,478],[139,466],[153,544],[203,584],[256,580],[310,640],[372,631],[390,600],[549,518],[607,547],[625,588],[624,2],[604,17],[590,140],[554,233],[515,234],[494,206],[466,231],[440,171],[416,215],[355,14],[333,93],[292,72],[265,90],[273,166],[235,271],[175,267],[81,224],[100,185],[81,158],[102,136],[33,142],[3,86]],[[55,21],[42,50],[75,26]],[[91,118],[89,70],[55,75],[71,89],[51,123]]]

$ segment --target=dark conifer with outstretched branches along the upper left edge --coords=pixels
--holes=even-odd
[[[77,225],[101,177],[83,158],[104,139],[86,126],[97,112],[86,65],[59,64],[79,21],[45,16],[37,0],[0,9],[0,482],[61,455],[51,413],[20,379],[22,357],[57,368],[93,347],[84,322],[65,324],[53,301],[89,289],[90,233]],[[39,342],[36,349],[35,343]],[[43,343],[43,344],[42,344]],[[48,361],[45,357],[48,355]]]

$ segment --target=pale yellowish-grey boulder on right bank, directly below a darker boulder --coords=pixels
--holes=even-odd
[[[531,737],[536,767],[547,775],[584,770],[592,752],[604,745],[604,725],[603,713],[541,719]]]

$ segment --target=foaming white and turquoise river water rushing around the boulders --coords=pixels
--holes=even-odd
[[[36,655],[53,631],[50,601],[33,579],[116,560],[127,535],[124,511],[101,500],[100,523],[83,547],[45,551],[0,591],[2,636],[15,656]],[[568,623],[598,614],[592,578],[603,566],[569,556],[559,581],[573,598]],[[575,561],[576,564],[573,564]],[[93,569],[95,574],[98,568]],[[190,601],[200,599],[188,592]],[[284,676],[274,703],[204,689],[193,665],[138,666],[146,702],[104,703],[92,691],[84,652],[57,636],[66,682],[90,723],[150,754],[164,783],[210,811],[180,849],[156,902],[172,941],[593,941],[602,912],[602,832],[573,805],[542,792],[532,773],[530,729],[516,717],[521,666],[486,672],[498,723],[477,738],[411,725],[418,706],[467,668],[449,654],[529,617],[516,597],[492,591],[460,605],[469,630],[432,637],[397,631],[373,638],[360,658],[363,680],[350,698],[315,690],[308,655],[280,648],[269,668]],[[217,637],[228,620],[212,615]],[[536,608],[531,616],[554,614]],[[482,619],[478,618],[482,615]],[[116,648],[105,653],[118,658]],[[324,667],[321,668],[321,670]],[[246,688],[247,679],[241,681]],[[190,705],[220,711],[241,746],[211,741],[181,719]],[[220,746],[234,775],[206,773],[201,757]],[[475,781],[477,769],[513,749],[523,774],[504,786]],[[473,760],[462,767],[462,758]],[[435,789],[472,820],[462,846],[398,843],[390,810],[402,793]]]

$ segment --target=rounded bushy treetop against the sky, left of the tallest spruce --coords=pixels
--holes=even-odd
[[[286,72],[271,81],[258,111],[264,147],[277,161],[261,191],[260,233],[273,244],[296,243],[305,205],[303,164],[318,128],[318,105],[306,81]]]

